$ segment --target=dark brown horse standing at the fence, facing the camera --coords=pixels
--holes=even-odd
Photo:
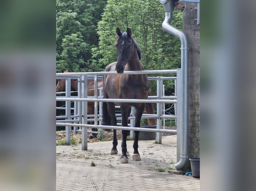
[[[143,71],[144,68],[140,62],[140,49],[132,37],[132,32],[127,28],[126,32],[121,32],[116,28],[117,39],[115,46],[117,48],[117,62],[113,62],[105,69],[106,72],[117,71],[122,74],[124,71]],[[104,75],[103,77],[103,94],[104,98],[116,99],[147,99],[149,93],[148,79],[145,74],[133,75]],[[154,113],[152,103],[114,103],[103,102],[103,124],[117,126],[115,115],[115,105],[120,105],[122,115],[122,126],[128,126],[128,116],[131,112],[131,106],[136,109],[135,127],[140,127],[141,116],[146,108],[147,113]],[[156,124],[156,119],[148,120],[151,124]],[[111,154],[117,154],[117,137],[116,130],[113,130],[113,148]],[[122,130],[122,156],[121,163],[128,163],[126,137],[129,135],[128,130]],[[135,131],[133,143],[133,160],[141,160],[138,152],[139,131]],[[128,155],[129,156],[129,155]]]

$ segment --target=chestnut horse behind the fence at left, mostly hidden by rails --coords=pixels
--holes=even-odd
[[[66,70],[66,72],[64,72],[63,70],[61,70],[61,73],[68,73],[69,71]],[[75,79],[71,79],[71,86],[78,91],[78,82]],[[103,81],[102,80],[98,80],[98,95],[99,95],[99,88],[103,87]],[[66,80],[65,79],[58,79],[58,83],[56,85],[56,92],[62,92],[64,91],[66,88]],[[94,80],[87,80],[87,96],[94,96]],[[99,102],[98,102],[98,110],[99,110]],[[89,115],[94,115],[94,102],[92,101],[88,101],[87,102],[87,111],[89,113]],[[91,117],[93,118],[93,117]],[[94,121],[91,121],[91,124],[94,124]],[[93,131],[98,131],[97,128],[92,128]],[[94,138],[96,137],[97,134],[93,134],[93,136],[90,136],[90,138]]]

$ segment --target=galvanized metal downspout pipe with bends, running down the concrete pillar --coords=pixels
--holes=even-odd
[[[172,12],[174,0],[159,0],[163,4],[165,18],[162,28],[168,33],[178,37],[181,42],[181,138],[180,138],[180,160],[174,165],[176,170],[181,170],[187,163],[188,158],[188,42],[186,35],[172,27]]]

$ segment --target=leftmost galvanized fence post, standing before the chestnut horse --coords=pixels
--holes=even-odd
[[[66,80],[66,97],[71,97],[71,79]],[[71,119],[71,101],[66,101],[67,120]],[[66,145],[71,144],[71,126],[66,126]]]

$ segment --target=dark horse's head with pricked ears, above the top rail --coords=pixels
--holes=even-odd
[[[124,67],[133,52],[134,41],[131,29],[129,28],[127,28],[126,32],[121,32],[120,29],[117,27],[116,34],[118,36],[115,43],[115,46],[117,48],[116,71],[118,74],[122,74],[124,72]]]

